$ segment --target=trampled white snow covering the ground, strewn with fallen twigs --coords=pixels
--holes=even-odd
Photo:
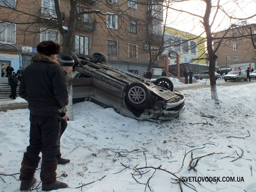
[[[61,138],[62,157],[71,161],[57,168],[58,180],[69,188],[56,192],[255,192],[256,82],[217,83],[218,102],[211,100],[209,87],[183,90],[184,113],[161,124],[127,118],[89,101],[74,104],[74,121]],[[175,80],[174,89],[207,84]],[[14,102],[25,101],[0,100]],[[17,192],[29,143],[29,110],[0,112],[0,119],[0,191]],[[181,190],[177,177],[190,179],[189,187],[181,182]],[[207,181],[193,182],[193,177]],[[214,177],[220,180],[208,181]],[[34,191],[41,192],[40,169],[35,178]]]

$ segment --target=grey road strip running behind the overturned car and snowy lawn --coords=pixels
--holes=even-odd
[[[256,80],[252,81],[238,81],[238,82],[233,82],[233,81],[227,81],[222,84],[217,84],[217,86],[235,86],[235,85],[244,85],[248,83],[254,83]],[[175,90],[178,91],[183,91],[183,90],[195,90],[195,89],[201,89],[201,88],[207,88],[210,87],[210,85],[205,85],[205,86],[193,86],[193,87],[187,87],[187,88],[174,88]],[[0,105],[0,111],[6,112],[7,110],[15,110],[15,109],[26,109],[28,108],[27,103],[15,103],[15,104],[6,104],[6,105]]]

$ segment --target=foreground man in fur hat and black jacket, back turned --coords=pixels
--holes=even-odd
[[[68,185],[56,180],[60,153],[60,129],[62,111],[68,105],[68,87],[65,73],[57,62],[60,44],[42,41],[37,54],[24,70],[19,94],[28,101],[30,110],[30,139],[20,169],[20,190],[29,190],[35,183],[34,173],[40,161],[42,190],[50,191],[67,188]]]

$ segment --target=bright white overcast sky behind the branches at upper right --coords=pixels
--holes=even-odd
[[[213,0],[213,2],[216,1]],[[235,2],[239,2],[239,6]],[[236,18],[246,18],[256,14],[255,0],[221,0],[220,4],[229,15],[232,15]],[[170,7],[203,16],[206,5],[202,0],[188,0],[186,2],[178,2],[176,4],[172,4]],[[213,13],[214,12],[212,12],[212,14]],[[192,16],[190,14],[178,13],[174,12],[173,10],[169,10],[167,20],[167,26],[176,28],[178,30],[190,32],[192,34],[200,34],[204,31],[203,25],[200,23],[200,20],[202,21],[202,19],[198,19],[196,16]],[[230,26],[230,23],[235,22],[237,21],[230,21],[221,11],[219,11],[216,20],[214,21],[212,31],[214,30],[214,32],[217,32],[223,30],[224,28]],[[256,18],[250,19],[248,22],[256,23]]]

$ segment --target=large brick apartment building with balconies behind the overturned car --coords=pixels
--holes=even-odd
[[[148,47],[158,49],[162,34],[162,6],[137,0],[80,0],[76,21],[74,52],[88,57],[103,52],[108,64],[143,74],[148,68]],[[153,4],[152,4],[153,2]],[[63,26],[68,27],[70,1],[60,0]],[[57,27],[54,0],[0,0],[0,64],[17,71],[26,68],[42,40],[63,44]],[[2,44],[2,45],[1,45]],[[158,66],[158,61],[154,62]]]

